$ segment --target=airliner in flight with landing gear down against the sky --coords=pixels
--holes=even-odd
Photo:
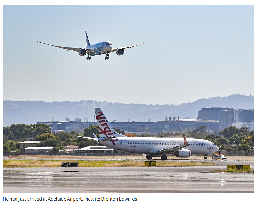
[[[86,31],[85,31],[85,36],[86,36],[86,43],[87,43],[86,48],[61,47],[61,46],[56,46],[56,45],[52,45],[52,44],[47,44],[47,45],[54,46],[54,47],[57,47],[59,49],[61,48],[61,49],[76,51],[76,52],[78,52],[78,54],[80,56],[85,56],[86,54],[88,54],[88,56],[86,57],[87,60],[91,59],[90,56],[106,54],[106,57],[105,57],[105,60],[106,60],[106,59],[109,59],[109,53],[110,52],[116,52],[116,54],[118,56],[121,56],[125,52],[124,49],[135,47],[135,46],[138,46],[138,45],[141,45],[141,44],[144,44],[144,43],[147,42],[147,41],[144,41],[143,43],[135,44],[135,45],[132,45],[132,46],[129,46],[129,47],[113,48],[112,43],[110,41],[102,41],[102,42],[91,45],[90,42],[89,42],[88,35],[87,35]],[[37,42],[39,42],[39,41],[37,41]],[[39,43],[46,44],[46,43],[43,43],[43,42],[39,42]]]

